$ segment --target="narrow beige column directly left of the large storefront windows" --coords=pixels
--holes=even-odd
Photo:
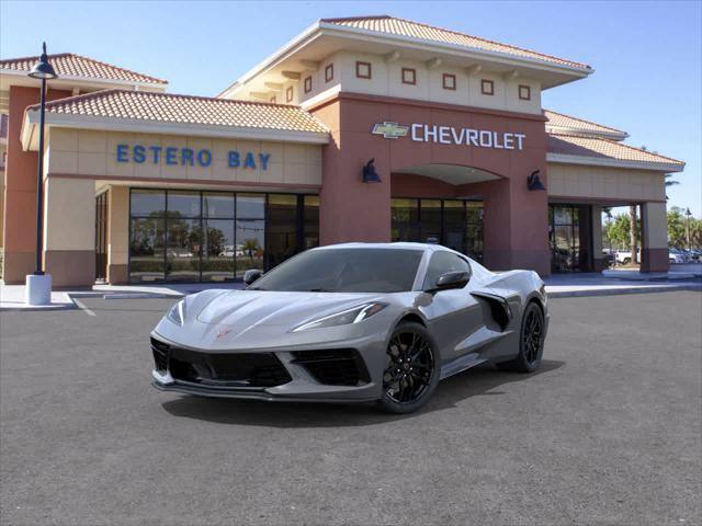
[[[129,188],[112,186],[107,194],[107,283],[128,283]]]

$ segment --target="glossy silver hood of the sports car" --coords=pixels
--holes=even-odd
[[[382,294],[367,293],[234,290],[216,296],[199,312],[189,312],[189,316],[195,316],[202,323],[216,325],[293,328],[310,319],[381,298]]]

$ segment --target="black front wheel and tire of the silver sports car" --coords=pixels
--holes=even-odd
[[[390,335],[380,407],[395,414],[417,411],[431,398],[441,376],[441,356],[420,323],[401,322]]]

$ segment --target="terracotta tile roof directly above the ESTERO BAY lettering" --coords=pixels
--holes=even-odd
[[[37,107],[30,106],[32,110]],[[321,123],[298,106],[146,91],[98,91],[49,102],[46,111],[161,123],[327,133]]]

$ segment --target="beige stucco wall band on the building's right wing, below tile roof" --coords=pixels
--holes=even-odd
[[[665,174],[645,170],[548,163],[548,195],[624,199],[665,201]]]

